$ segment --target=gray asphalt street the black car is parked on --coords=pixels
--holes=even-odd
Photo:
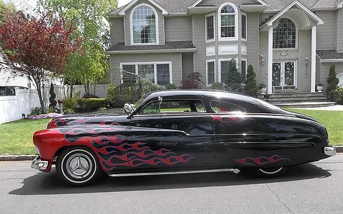
[[[0,162],[0,213],[343,213],[343,154],[290,168],[280,178],[248,173],[111,178],[69,187],[28,161]]]

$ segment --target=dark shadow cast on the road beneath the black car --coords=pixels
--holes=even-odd
[[[305,164],[290,167],[279,178],[259,178],[241,171],[239,174],[215,172],[204,174],[178,174],[160,176],[102,176],[94,184],[86,187],[64,185],[53,169],[51,173],[38,173],[23,180],[23,187],[10,191],[12,195],[51,195],[72,193],[102,193],[120,191],[143,191],[156,189],[182,189],[194,187],[224,187],[236,185],[254,185],[273,182],[327,178],[329,171],[316,165]]]

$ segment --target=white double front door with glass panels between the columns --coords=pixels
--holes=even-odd
[[[296,61],[273,62],[272,83],[275,89],[296,88]]]

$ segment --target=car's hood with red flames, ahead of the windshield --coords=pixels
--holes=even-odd
[[[128,116],[108,116],[108,115],[93,115],[93,116],[83,116],[83,115],[69,115],[56,117],[51,119],[47,125],[47,129],[50,128],[63,128],[69,126],[128,126],[130,119]]]

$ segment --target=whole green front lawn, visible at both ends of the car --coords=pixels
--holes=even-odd
[[[329,132],[331,145],[343,145],[343,111],[287,110],[309,115],[320,121]],[[47,126],[49,119],[20,120],[0,125],[0,155],[35,154],[32,134]]]

